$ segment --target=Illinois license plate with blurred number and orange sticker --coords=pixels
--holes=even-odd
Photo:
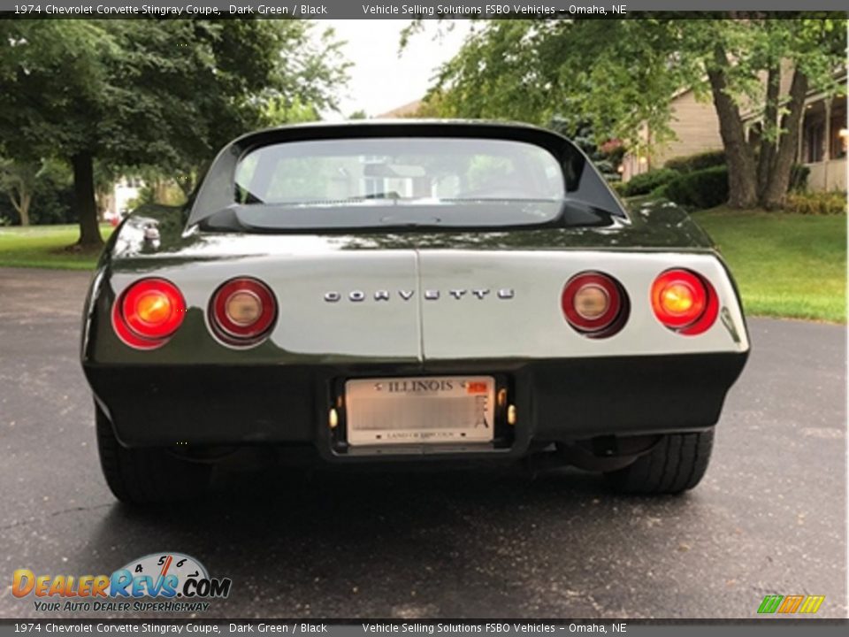
[[[492,376],[348,380],[345,403],[352,446],[493,440]]]

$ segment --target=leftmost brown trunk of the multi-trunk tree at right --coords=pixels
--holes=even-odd
[[[746,134],[740,111],[734,100],[726,93],[727,82],[723,66],[728,59],[721,47],[714,51],[716,67],[707,71],[716,115],[719,118],[719,134],[723,138],[725,158],[728,162],[728,204],[731,208],[754,208],[758,203],[757,173],[754,154],[746,143]]]

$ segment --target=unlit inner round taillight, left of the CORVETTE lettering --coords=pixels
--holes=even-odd
[[[228,280],[212,295],[212,325],[229,343],[253,344],[263,338],[277,318],[277,302],[262,281],[241,277]]]

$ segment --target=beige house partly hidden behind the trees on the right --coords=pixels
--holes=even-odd
[[[792,80],[792,69],[782,73],[781,94],[786,95]],[[846,72],[838,77],[845,83]],[[670,127],[677,139],[649,154],[626,154],[623,158],[623,180],[646,173],[672,157],[683,157],[707,150],[721,150],[719,119],[714,105],[699,102],[692,89],[681,90],[672,96]],[[757,146],[761,141],[761,111],[744,111],[747,140]],[[651,131],[640,131],[642,139],[650,141]],[[825,96],[810,91],[805,98],[805,110],[796,149],[796,161],[807,165],[810,174],[807,186],[811,190],[846,189],[846,145],[849,130],[846,124],[846,97]]]

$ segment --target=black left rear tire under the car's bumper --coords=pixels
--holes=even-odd
[[[103,477],[112,493],[127,504],[178,502],[207,490],[210,464],[191,462],[167,449],[122,447],[106,414],[96,406],[97,450]]]

